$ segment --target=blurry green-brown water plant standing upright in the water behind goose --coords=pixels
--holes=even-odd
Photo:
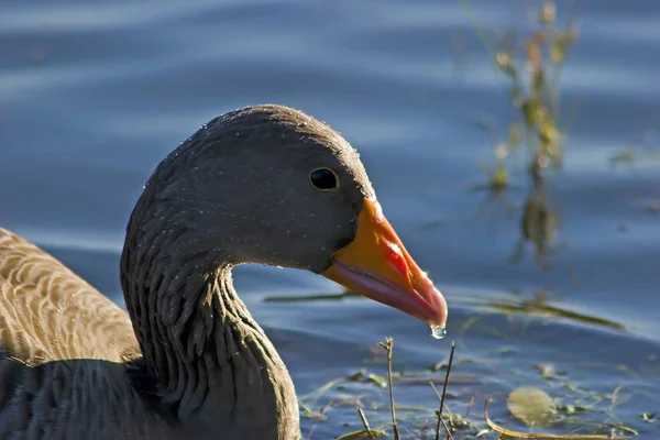
[[[461,1],[471,11],[469,0]],[[518,113],[518,121],[508,128],[508,138],[495,143],[495,164],[481,166],[488,186],[501,189],[509,183],[507,161],[521,145],[527,146],[530,175],[539,168],[561,165],[568,136],[568,119],[561,114],[561,74],[580,33],[572,16],[564,28],[558,25],[552,1],[543,2],[536,25],[524,35],[521,44],[513,32],[488,37],[472,16],[494,68],[508,82],[508,99]]]

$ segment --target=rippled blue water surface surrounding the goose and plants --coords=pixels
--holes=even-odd
[[[482,1],[474,11],[495,29],[525,31],[526,4]],[[477,163],[493,154],[475,121],[504,135],[516,113],[458,0],[0,1],[0,224],[121,302],[123,228],[160,160],[221,112],[289,105],[360,150],[385,213],[450,305],[449,337],[435,341],[420,322],[362,299],[265,302],[341,289],[307,273],[241,267],[237,287],[300,396],[361,367],[383,374],[373,346],[391,336],[395,370],[407,374],[395,386],[403,430],[433,425],[428,381],[444,372],[429,366],[453,339],[449,407],[462,414],[474,397],[477,424],[492,397],[491,416],[506,425],[508,392],[535,385],[596,409],[574,421],[660,438],[660,420],[641,417],[660,418],[660,161],[609,163],[631,142],[649,155],[660,148],[660,2],[576,4],[581,38],[563,101],[578,108],[565,166],[547,182],[558,222],[547,264],[522,240],[524,162],[505,195],[473,190],[484,182]],[[304,402],[334,406],[312,439],[358,429],[355,396],[373,426],[387,421],[386,391],[372,382],[320,394]],[[315,425],[302,418],[305,438]],[[581,427],[594,430],[608,431]]]

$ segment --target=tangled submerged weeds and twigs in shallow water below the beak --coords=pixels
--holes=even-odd
[[[304,418],[312,421],[307,439],[323,438],[315,436],[315,430],[327,420],[333,410],[352,408],[354,420],[346,421],[345,435],[337,440],[356,439],[624,439],[637,436],[638,431],[626,426],[616,416],[616,407],[622,399],[622,389],[626,385],[613,385],[610,393],[598,393],[576,385],[564,371],[551,365],[534,365],[530,371],[538,374],[537,385],[518,386],[508,392],[483,393],[481,404],[474,396],[466,398],[465,391],[474,385],[485,387],[496,378],[471,375],[451,377],[452,365],[466,363],[487,363],[488,360],[455,358],[452,343],[448,360],[427,371],[393,371],[394,341],[386,339],[374,348],[385,370],[384,375],[362,369],[344,377],[337,377],[317,391],[302,396],[300,406]],[[376,350],[385,350],[386,355],[378,356]],[[509,353],[502,352],[506,356]],[[492,384],[491,384],[492,385]],[[427,405],[404,406],[395,402],[393,387],[417,387],[422,392],[427,387],[437,396],[436,408]],[[472,388],[471,388],[472,386]],[[452,387],[459,387],[457,393]],[[548,389],[548,392],[546,391]],[[327,397],[331,395],[331,397]],[[452,406],[465,408],[463,414],[451,410]],[[503,403],[502,400],[505,400]],[[458,402],[458,404],[457,404]],[[465,403],[468,403],[465,405]],[[477,407],[482,407],[483,410]],[[501,418],[503,409],[508,417]],[[493,416],[495,411],[497,416]],[[339,417],[345,416],[344,410]],[[350,411],[348,413],[350,414]],[[397,416],[398,415],[398,416]],[[402,416],[403,415],[403,416]],[[651,422],[656,415],[640,415]]]

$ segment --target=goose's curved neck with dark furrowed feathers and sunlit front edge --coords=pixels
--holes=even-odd
[[[186,231],[133,221],[140,221],[135,213],[121,258],[122,288],[163,409],[200,432],[220,424],[235,436],[297,436],[293,383],[235,294],[229,258],[177,245]]]

